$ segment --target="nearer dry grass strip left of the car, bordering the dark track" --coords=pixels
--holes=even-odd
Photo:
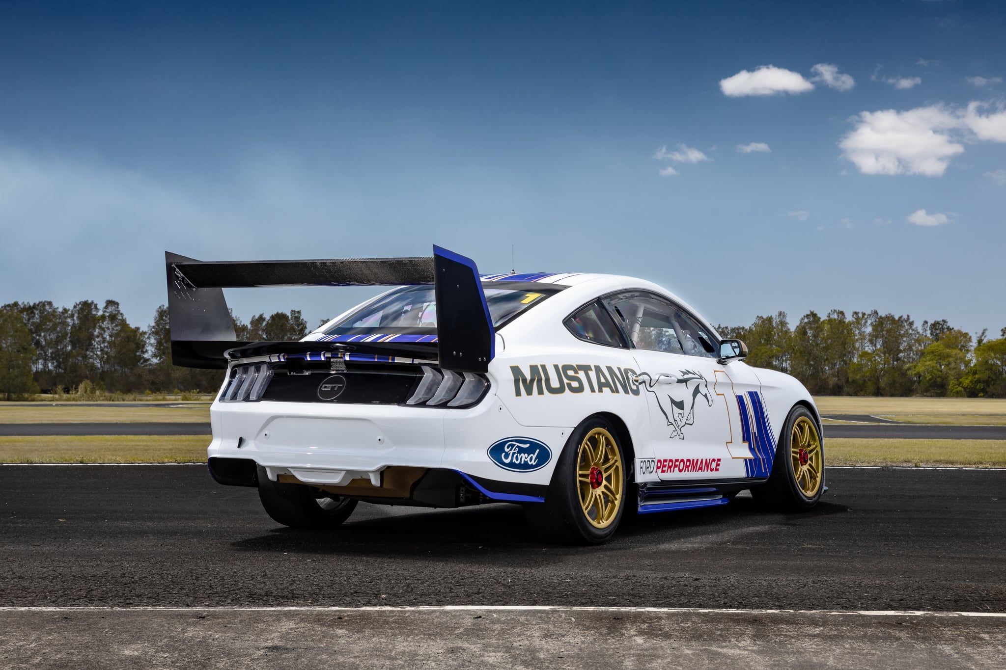
[[[0,463],[198,463],[208,435],[0,437]]]

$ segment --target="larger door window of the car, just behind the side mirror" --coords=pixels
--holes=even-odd
[[[633,349],[715,358],[716,342],[676,304],[652,293],[633,291],[606,297]]]

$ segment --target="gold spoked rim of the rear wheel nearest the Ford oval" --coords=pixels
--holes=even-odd
[[[579,443],[576,455],[576,490],[583,516],[597,528],[611,525],[622,504],[625,475],[615,438],[595,428]]]

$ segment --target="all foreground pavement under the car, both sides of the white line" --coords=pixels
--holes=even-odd
[[[856,612],[1006,612],[1006,471],[827,476],[811,512],[743,497],[574,547],[510,505],[291,530],[204,466],[2,466],[0,666],[1001,667],[1004,618]],[[441,605],[475,608],[228,609]]]

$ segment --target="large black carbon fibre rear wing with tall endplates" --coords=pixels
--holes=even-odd
[[[458,372],[484,373],[496,333],[470,258],[434,246],[418,258],[201,261],[165,252],[171,358],[186,368],[225,368],[235,358],[265,354],[356,351],[431,359]],[[238,342],[224,288],[259,286],[397,286],[434,284],[437,343]]]

